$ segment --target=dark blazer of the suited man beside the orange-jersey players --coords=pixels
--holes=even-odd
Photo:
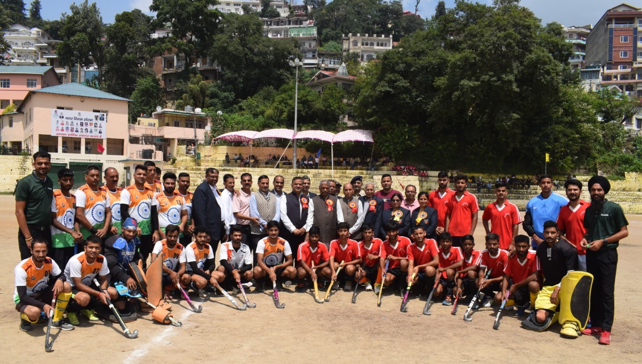
[[[192,218],[195,225],[202,225],[209,230],[212,241],[221,239],[221,207],[216,202],[212,188],[202,182],[192,196]]]

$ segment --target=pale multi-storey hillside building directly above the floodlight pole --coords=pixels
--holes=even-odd
[[[303,53],[303,65],[316,68],[318,65],[317,26],[306,17],[261,18],[263,34],[270,38],[296,38]]]

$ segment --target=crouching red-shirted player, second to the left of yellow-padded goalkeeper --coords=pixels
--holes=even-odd
[[[478,286],[485,297],[481,300],[480,306],[490,307],[488,297],[495,297],[495,302],[501,302],[501,282],[504,280],[504,272],[508,266],[508,252],[499,248],[499,235],[491,232],[486,234],[486,248],[482,250],[482,262],[478,277]],[[484,275],[487,269],[492,269],[489,279]],[[497,292],[497,294],[495,293]],[[485,304],[484,304],[485,302]]]

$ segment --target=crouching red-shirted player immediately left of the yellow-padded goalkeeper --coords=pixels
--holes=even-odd
[[[519,314],[524,312],[526,306],[535,307],[535,299],[539,293],[539,260],[534,251],[530,248],[530,239],[526,235],[518,235],[515,238],[515,250],[517,254],[508,259],[508,265],[504,271],[504,280],[501,283],[501,295],[495,297],[495,303],[501,304],[501,300],[508,296],[508,299],[515,300],[519,308]],[[499,298],[499,300],[498,300]],[[508,300],[508,302],[510,302]],[[512,306],[508,304],[508,306]]]

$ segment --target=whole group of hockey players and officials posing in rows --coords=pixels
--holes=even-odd
[[[573,293],[562,281],[586,271],[593,279],[592,325],[586,328],[575,311],[560,312],[561,333],[611,340],[617,247],[628,235],[628,222],[621,207],[605,199],[610,184],[604,177],[589,180],[591,201],[585,202],[582,182],[567,180],[564,198],[551,191],[552,177],[541,175],[541,193],[528,202],[523,220],[507,199],[507,182],[496,182],[496,201],[483,209],[480,251],[473,238],[478,200],[467,191],[465,175],[456,175],[455,190],[449,189],[446,171],[438,173],[438,188],[430,193],[417,193],[412,185],[401,193],[388,174],[381,175],[378,190],[356,176],[344,184],[322,180],[315,193],[306,176],[292,178],[291,191],[284,191],[280,175],[272,186],[268,176],[259,176],[252,191],[250,173],[240,176],[240,188],[225,174],[219,188],[219,171],[207,168],[191,193],[189,174],[161,176],[148,161],[135,167],[134,184],[125,189],[117,187],[116,169],[105,169],[105,185],[99,186],[100,168],[89,166],[87,183],[73,195],[73,172],[61,169],[60,189],[53,191],[50,166],[48,153],[35,153],[33,173],[15,192],[22,259],[15,268],[15,304],[25,331],[63,293],[73,298],[69,322],[55,323],[62,329],[73,329],[78,313],[97,319],[92,307],[105,304],[107,296],[125,309],[126,299],[113,285],[134,289],[130,263],[144,265],[151,255],[150,264],[163,259],[166,297],[179,284],[204,295],[204,289],[236,284],[262,291],[269,281],[306,291],[318,280],[335,290],[412,285],[417,295],[434,286],[433,297],[451,305],[472,300],[480,290],[476,306],[509,300],[521,312],[530,310],[525,327],[535,331],[548,327],[569,302],[565,289],[582,300],[579,289]],[[100,287],[91,284],[96,276]]]

